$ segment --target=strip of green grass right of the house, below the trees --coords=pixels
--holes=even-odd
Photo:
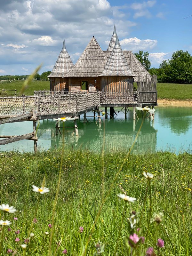
[[[192,100],[192,84],[157,83],[159,99]]]

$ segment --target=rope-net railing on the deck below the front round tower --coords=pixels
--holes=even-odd
[[[100,104],[136,104],[139,92],[100,92]]]

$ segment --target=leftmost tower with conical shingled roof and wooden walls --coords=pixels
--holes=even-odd
[[[68,92],[68,79],[63,78],[74,67],[74,64],[66,50],[65,39],[63,40],[63,48],[55,63],[55,66],[48,76],[50,78],[50,91]]]

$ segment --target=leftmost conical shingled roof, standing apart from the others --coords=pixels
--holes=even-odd
[[[65,39],[63,40],[63,48],[55,63],[55,66],[48,77],[62,77],[74,67],[74,64],[66,50]]]

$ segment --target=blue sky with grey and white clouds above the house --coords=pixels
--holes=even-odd
[[[151,67],[192,54],[190,0],[0,0],[0,75],[52,70],[65,37],[76,62],[94,35],[106,50],[116,23],[123,50],[148,51]]]

